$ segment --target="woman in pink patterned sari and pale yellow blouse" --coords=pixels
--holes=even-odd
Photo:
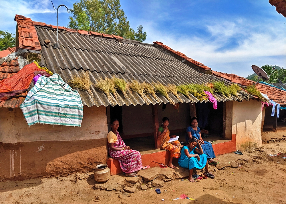
[[[127,177],[137,177],[135,171],[142,169],[140,152],[125,145],[117,131],[119,127],[117,119],[113,119],[110,126],[111,131],[107,135],[110,157],[118,159],[120,168]]]

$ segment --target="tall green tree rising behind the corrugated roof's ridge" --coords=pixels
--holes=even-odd
[[[146,39],[142,25],[137,32],[130,28],[119,0],[80,0],[70,11],[73,16],[69,17],[69,28],[114,34],[140,42]]]

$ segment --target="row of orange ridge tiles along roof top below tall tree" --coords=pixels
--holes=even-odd
[[[46,23],[41,23],[41,22],[37,22],[37,21],[33,21],[34,25],[38,25],[38,26],[42,26],[42,27],[51,27],[53,29],[57,29],[57,26],[55,25],[50,25],[50,24],[46,24]],[[105,33],[98,33],[98,32],[94,32],[94,31],[85,31],[85,30],[76,30],[76,29],[71,29],[71,28],[67,28],[67,27],[58,27],[59,30],[62,31],[67,31],[67,32],[72,32],[72,33],[80,33],[82,35],[91,35],[91,36],[96,36],[96,37],[105,37],[105,38],[111,38],[111,39],[123,39],[123,37],[118,36],[118,35],[109,35],[109,34],[105,34]]]

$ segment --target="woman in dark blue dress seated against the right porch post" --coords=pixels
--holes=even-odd
[[[212,144],[202,140],[202,135],[200,134],[200,128],[197,127],[198,121],[196,117],[191,119],[191,126],[187,128],[186,141],[192,138],[196,138],[199,144],[202,146],[202,150],[208,156],[209,164],[217,164],[218,162],[213,160],[215,158],[215,152],[212,149]]]

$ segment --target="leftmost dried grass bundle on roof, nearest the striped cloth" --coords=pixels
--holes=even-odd
[[[88,92],[88,94],[90,95],[90,97],[92,99],[94,99],[94,96],[92,94],[92,90],[90,90],[90,86],[93,84],[90,81],[90,73],[87,71],[84,71],[82,73],[80,73],[80,76],[72,76],[72,79],[69,80],[69,83],[73,86],[73,87],[77,87],[79,89],[82,90],[86,90]]]

